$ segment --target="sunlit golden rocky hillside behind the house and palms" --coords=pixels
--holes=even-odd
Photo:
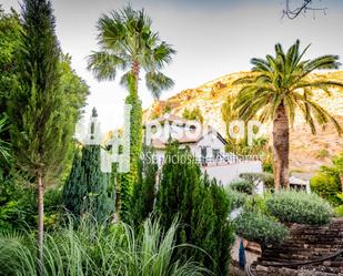
[[[238,88],[232,82],[249,72],[232,73],[210,81],[199,88],[183,90],[174,96],[153,104],[144,112],[144,121],[165,112],[182,115],[183,110],[200,108],[204,124],[212,125],[223,135],[225,126],[221,115],[221,108],[228,95],[234,95]],[[313,74],[312,78],[327,78],[343,82],[343,71]],[[333,90],[333,96],[327,98],[321,91],[314,91],[315,99],[331,114],[334,114],[343,125],[343,89]],[[330,163],[330,157],[343,151],[343,137],[339,136],[332,125],[325,130],[319,127],[316,135],[311,134],[301,114],[296,115],[291,131],[291,166],[294,171],[314,172],[323,164]]]

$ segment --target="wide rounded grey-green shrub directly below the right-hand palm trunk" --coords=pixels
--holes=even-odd
[[[332,207],[316,194],[283,191],[266,200],[271,215],[281,222],[324,225],[333,216]]]

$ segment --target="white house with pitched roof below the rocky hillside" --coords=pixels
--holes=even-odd
[[[223,185],[238,180],[241,173],[261,173],[260,160],[239,157],[225,152],[228,142],[213,127],[203,127],[199,122],[165,114],[144,124],[144,143],[155,150],[161,166],[168,142],[176,140],[180,147],[189,146],[201,170]],[[262,188],[263,190],[263,188]],[[262,191],[261,191],[262,192]]]

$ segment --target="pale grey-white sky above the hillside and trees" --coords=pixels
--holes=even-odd
[[[250,70],[250,59],[273,53],[278,42],[287,48],[300,39],[302,47],[312,43],[307,58],[334,53],[343,59],[342,0],[317,0],[315,4],[327,8],[326,16],[309,13],[295,20],[282,19],[284,1],[131,0],[134,9],[144,8],[153,20],[152,29],[178,51],[163,71],[175,85],[163,92],[162,100],[221,75]],[[20,0],[0,0],[0,3],[6,10],[10,7],[18,10]],[[98,82],[87,70],[87,57],[98,50],[98,19],[127,3],[127,0],[52,0],[62,50],[72,57],[72,68],[91,90],[85,114],[95,106],[102,131],[123,123],[128,92],[119,80]],[[148,108],[153,99],[143,82],[139,93],[143,108]]]

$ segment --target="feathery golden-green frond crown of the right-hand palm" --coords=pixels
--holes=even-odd
[[[301,51],[297,40],[286,52],[281,44],[276,44],[275,57],[268,55],[265,60],[252,59],[253,73],[234,82],[234,85],[242,85],[234,104],[239,117],[251,120],[261,111],[262,122],[273,121],[278,106],[283,104],[291,123],[294,122],[296,108],[300,108],[313,133],[315,120],[322,125],[332,122],[341,133],[337,121],[315,103],[311,89],[322,89],[330,94],[329,88],[342,88],[343,84],[307,78],[315,70],[339,69],[339,57],[327,54],[313,60],[302,60],[307,49],[309,47]],[[260,93],[261,90],[263,93]]]

